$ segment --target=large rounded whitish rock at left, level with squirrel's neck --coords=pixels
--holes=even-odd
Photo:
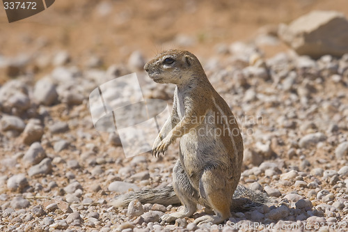
[[[58,99],[56,86],[48,79],[40,79],[35,84],[33,97],[39,104],[52,105]]]

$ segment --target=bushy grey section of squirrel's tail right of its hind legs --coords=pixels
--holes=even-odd
[[[233,194],[231,210],[233,212],[245,212],[267,202],[269,202],[267,194],[254,192],[243,185],[238,185]]]

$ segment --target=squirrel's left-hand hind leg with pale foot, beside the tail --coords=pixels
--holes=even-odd
[[[189,178],[184,172],[180,161],[175,164],[173,169],[173,189],[184,206],[184,209],[163,215],[160,218],[161,224],[173,222],[178,218],[190,217],[196,212],[198,192],[190,184]]]

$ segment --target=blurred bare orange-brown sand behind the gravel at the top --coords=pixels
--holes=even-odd
[[[279,23],[288,24],[311,10],[348,15],[348,1],[59,0],[42,13],[10,24],[1,9],[0,55],[54,56],[65,51],[74,64],[94,59],[105,67],[126,63],[134,51],[142,52],[146,60],[175,47],[207,56],[217,44],[247,41],[262,30],[276,33]],[[287,49],[281,42],[258,47],[267,57]],[[49,68],[39,66],[42,72],[36,78]],[[3,83],[8,77],[6,72],[0,75]]]

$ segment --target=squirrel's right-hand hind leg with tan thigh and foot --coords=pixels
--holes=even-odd
[[[198,217],[194,221],[196,224],[219,224],[231,216],[233,189],[221,176],[223,173],[216,169],[203,172],[199,184],[200,196],[205,199],[216,215]]]

